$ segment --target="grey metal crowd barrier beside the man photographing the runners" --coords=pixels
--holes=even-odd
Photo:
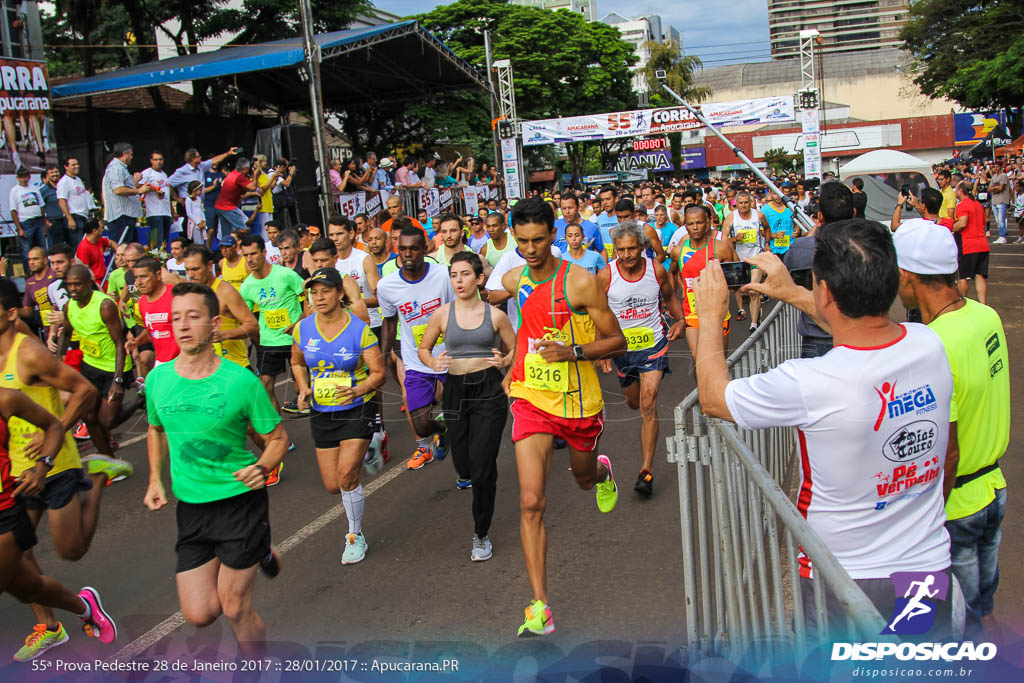
[[[728,358],[733,379],[800,355],[798,311],[778,303]],[[746,431],[708,418],[694,389],[675,410],[669,462],[677,465],[686,641],[692,654],[807,653],[817,634],[887,640],[886,621],[791,501],[794,430]],[[804,618],[797,551],[813,561],[820,632]],[[846,610],[829,625],[824,588]]]

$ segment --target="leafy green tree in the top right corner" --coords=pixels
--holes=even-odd
[[[920,0],[900,31],[913,56],[913,82],[933,99],[1007,112],[1021,133],[1024,6],[1020,0]]]

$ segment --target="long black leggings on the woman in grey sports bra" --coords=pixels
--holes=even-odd
[[[490,529],[498,490],[498,450],[508,420],[503,376],[496,368],[449,375],[441,410],[455,470],[473,482],[473,526],[483,538]]]

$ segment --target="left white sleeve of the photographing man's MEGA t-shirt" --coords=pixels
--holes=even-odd
[[[732,380],[725,387],[725,402],[742,429],[803,427],[808,422],[801,393],[801,369],[807,361],[787,360],[767,373]],[[808,381],[803,383],[810,386]]]

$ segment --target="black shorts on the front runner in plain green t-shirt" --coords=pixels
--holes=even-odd
[[[231,569],[248,569],[270,553],[266,488],[211,503],[178,501],[178,572],[214,557]]]

